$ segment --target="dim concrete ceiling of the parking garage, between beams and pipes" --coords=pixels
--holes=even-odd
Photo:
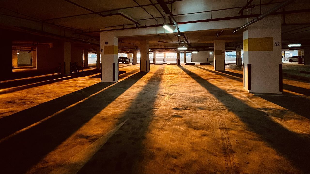
[[[251,3],[253,8],[246,9],[245,13],[263,13],[276,6],[277,2],[282,1],[283,0],[254,0]],[[247,0],[165,0],[165,2],[171,13],[175,15],[175,19],[178,22],[183,22],[197,19],[210,19],[211,12],[203,12],[210,10],[213,11],[212,18],[237,16],[241,7],[246,5]],[[260,7],[260,3],[271,4]],[[232,9],[216,11],[225,8]],[[286,9],[305,8],[310,8],[308,0],[296,1]],[[134,27],[136,25],[135,21],[139,23],[138,26],[169,23],[167,15],[163,12],[161,6],[157,4],[156,0],[2,0],[0,1],[0,9],[0,17],[1,14],[22,16],[28,19],[44,20],[45,22],[64,27],[77,28],[84,32],[98,31],[100,29]],[[100,14],[105,17],[96,14],[97,12],[100,12]],[[194,12],[203,13],[187,14]],[[116,13],[121,13],[122,15],[111,15]],[[296,16],[299,19],[303,19],[305,16],[306,18],[300,20],[298,22],[299,24],[291,25],[292,23],[296,23]],[[294,17],[292,17],[292,15],[286,15],[287,25],[282,26],[282,40],[284,44],[302,43],[303,45],[310,45],[309,16],[310,13],[294,14]],[[307,20],[308,23],[306,24],[304,21]],[[282,23],[284,22],[285,21]],[[0,27],[2,27],[1,24]],[[216,37],[216,34],[222,30],[221,28],[216,30],[185,32],[184,36],[189,41],[193,50],[209,50],[209,47],[213,46],[213,40],[215,39],[224,39],[226,41],[226,49],[232,49],[236,46],[241,46],[243,42],[242,32],[232,34],[233,29],[234,28],[225,29],[220,37]],[[89,33],[89,35],[99,37],[98,32]],[[177,33],[170,33],[155,34],[154,36],[119,38],[119,49],[123,51],[136,48],[139,49],[139,42],[141,40],[149,40],[150,48],[158,51],[170,50],[170,48],[186,45],[184,37],[178,37]]]

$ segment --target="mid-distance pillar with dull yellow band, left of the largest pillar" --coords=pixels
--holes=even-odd
[[[214,41],[214,70],[225,70],[225,40]]]

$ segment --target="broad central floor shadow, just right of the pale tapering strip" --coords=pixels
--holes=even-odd
[[[152,158],[151,151],[143,150],[142,141],[151,124],[155,112],[162,102],[157,100],[159,83],[164,68],[158,69],[148,79],[131,106],[121,115],[119,123],[126,123],[101,147],[100,150],[78,172],[82,173],[138,173],[132,171],[134,165],[143,167],[144,159]],[[119,116],[118,116],[119,117]],[[117,125],[117,124],[115,124]]]

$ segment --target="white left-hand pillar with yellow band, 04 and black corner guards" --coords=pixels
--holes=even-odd
[[[118,38],[100,34],[102,82],[118,81]]]

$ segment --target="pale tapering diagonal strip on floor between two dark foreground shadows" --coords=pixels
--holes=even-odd
[[[128,119],[127,119],[128,120]],[[123,121],[117,127],[110,130],[104,136],[100,137],[98,140],[89,145],[86,149],[82,150],[71,159],[66,161],[60,167],[56,168],[50,174],[76,174],[90,159],[94,156],[95,153],[106,143],[116,131],[121,128],[121,126],[127,121]]]

